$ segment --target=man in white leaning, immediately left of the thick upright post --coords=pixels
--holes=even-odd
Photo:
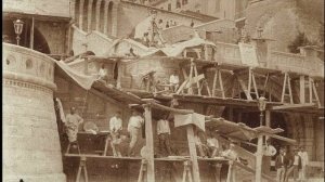
[[[128,132],[130,133],[131,136],[131,142],[128,150],[128,156],[134,155],[134,146],[138,143],[138,138],[143,123],[144,123],[144,119],[139,115],[136,110],[133,110],[128,125]]]

